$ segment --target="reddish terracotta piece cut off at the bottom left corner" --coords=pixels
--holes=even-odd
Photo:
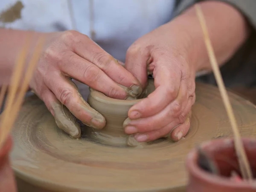
[[[15,177],[9,161],[12,139],[8,137],[0,149],[0,192],[17,192]]]

